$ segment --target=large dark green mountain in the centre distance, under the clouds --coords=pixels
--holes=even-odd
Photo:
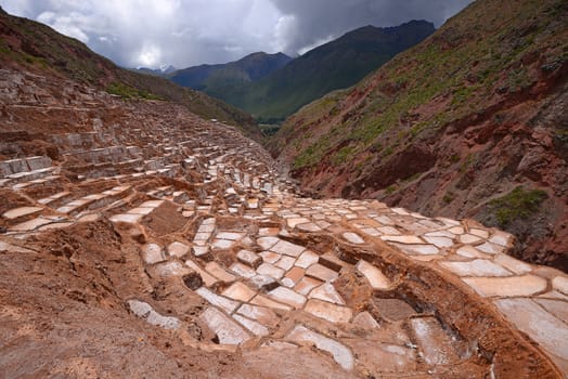
[[[325,93],[347,88],[434,32],[424,21],[389,28],[365,26],[318,47],[258,82],[220,99],[260,119],[284,119]]]

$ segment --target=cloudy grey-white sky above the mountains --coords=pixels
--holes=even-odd
[[[427,19],[439,27],[472,0],[0,0],[127,67],[297,55],[360,26]]]

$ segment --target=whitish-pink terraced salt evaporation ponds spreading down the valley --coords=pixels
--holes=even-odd
[[[425,264],[451,274],[480,297],[491,298],[488,300],[512,325],[539,343],[538,349],[552,356],[558,366],[567,367],[564,353],[568,351],[564,342],[567,338],[563,336],[567,330],[568,279],[558,273],[543,275],[535,266],[504,254],[512,244],[511,235],[472,226],[465,221],[430,219],[402,208],[389,209],[377,201],[300,198],[287,192],[289,182],[280,181],[270,171],[269,165],[259,162],[263,158],[259,158],[257,151],[243,147],[247,145],[241,144],[240,136],[231,134],[228,129],[222,129],[222,139],[216,140],[218,146],[209,143],[215,133],[207,129],[195,134],[202,140],[190,141],[193,145],[185,146],[186,135],[181,138],[176,134],[176,128],[164,128],[159,133],[154,133],[164,134],[164,140],[157,144],[153,139],[149,138],[147,141],[153,148],[163,149],[163,157],[144,157],[141,161],[132,160],[130,156],[113,157],[116,161],[128,162],[133,167],[140,167],[140,172],[124,173],[108,180],[122,183],[124,192],[135,192],[128,190],[129,181],[135,180],[142,184],[147,181],[145,178],[154,180],[162,174],[176,177],[176,172],[181,172],[177,169],[186,166],[206,178],[203,183],[195,183],[203,185],[201,195],[190,201],[185,200],[186,196],[195,194],[184,195],[183,191],[173,185],[153,187],[144,190],[146,193],[142,194],[152,196],[153,200],[142,204],[124,201],[118,208],[121,213],[108,212],[108,215],[113,222],[141,227],[142,221],[150,222],[156,208],[167,202],[179,207],[188,222],[193,223],[191,230],[159,236],[164,239],[151,236],[151,241],[144,244],[146,248],[152,244],[156,247],[141,250],[141,262],[144,262],[144,269],[152,278],[198,274],[203,285],[195,292],[205,304],[199,317],[217,335],[221,345],[243,344],[255,337],[267,338],[267,342],[261,342],[261,345],[298,350],[304,344],[314,345],[313,351],[324,352],[322,362],[335,363],[347,370],[362,364],[364,358],[361,356],[364,354],[371,354],[369,356],[375,361],[384,360],[383,366],[395,373],[399,369],[415,369],[417,355],[421,364],[426,362],[433,367],[461,362],[453,350],[453,340],[448,339],[448,334],[434,318],[417,316],[416,311],[400,299],[378,297],[399,284],[395,282],[398,278],[391,279],[386,275],[396,270],[383,272],[371,260],[359,258],[353,265],[353,262],[340,261],[335,256],[336,251],[315,251],[317,246],[304,243],[324,233],[331,239],[339,240],[343,246],[347,244],[354,249],[369,249],[378,257],[384,244],[387,244],[415,264]],[[227,133],[231,135],[229,140],[238,140],[231,148],[223,147],[223,144],[232,143],[227,141]],[[116,141],[128,139],[132,140],[133,136],[120,135]],[[135,139],[139,141],[141,136],[135,135]],[[127,154],[128,148],[111,151]],[[89,154],[105,155],[105,152],[108,151],[91,151]],[[138,153],[130,149],[128,155],[134,153],[143,155],[144,148]],[[149,158],[153,158],[154,162],[150,162]],[[169,166],[170,161],[175,164]],[[93,173],[95,171],[93,167]],[[182,175],[177,179],[185,180]],[[14,186],[16,182],[13,181],[0,183],[1,186],[10,185],[14,191],[41,184],[31,181],[18,183],[17,186]],[[77,209],[90,207],[92,202],[89,201],[103,204],[108,200],[107,197],[124,194],[121,191],[116,187],[67,205],[63,204],[68,200],[66,197],[62,197],[61,204],[53,197],[50,201],[38,201],[44,206],[38,209],[49,212],[55,210],[55,206],[67,206],[64,210],[69,213],[65,220],[70,225],[80,220],[73,214]],[[222,222],[216,219],[225,217],[234,218],[233,221],[240,219],[251,222],[258,232],[255,227],[246,232],[232,226],[222,228]],[[28,225],[29,230],[33,230],[31,224]],[[379,245],[380,241],[384,244]],[[0,250],[2,246],[4,249],[15,248],[12,244],[0,241]],[[30,252],[20,249],[25,253]],[[219,250],[230,254],[233,260],[220,259],[217,256]],[[365,259],[369,257],[372,254],[365,256]],[[180,258],[184,258],[185,262],[182,263]],[[351,303],[353,299],[349,292],[345,295],[336,289],[336,285],[341,289],[340,286],[347,279],[356,280],[362,292],[374,293],[376,309],[356,308],[360,304]],[[177,317],[157,313],[149,303],[138,301],[132,304],[132,312],[138,312],[140,317],[145,317],[153,325],[167,328],[176,325],[176,321],[181,323]],[[383,312],[380,317],[375,313],[377,310]],[[376,336],[387,325],[404,323],[409,317],[411,321],[406,326],[412,330],[411,340],[401,339],[404,342],[399,344],[392,341],[377,343],[364,337]],[[359,334],[351,335],[352,328]],[[272,342],[269,343],[269,340]]]

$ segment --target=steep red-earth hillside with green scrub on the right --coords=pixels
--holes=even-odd
[[[271,148],[308,193],[473,217],[568,271],[567,71],[566,1],[479,0]]]

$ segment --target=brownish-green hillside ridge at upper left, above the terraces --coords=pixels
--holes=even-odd
[[[237,125],[248,135],[260,136],[253,118],[233,106],[166,79],[122,69],[78,40],[43,24],[11,16],[1,8],[0,64],[68,78],[121,97],[170,100],[204,118]]]

